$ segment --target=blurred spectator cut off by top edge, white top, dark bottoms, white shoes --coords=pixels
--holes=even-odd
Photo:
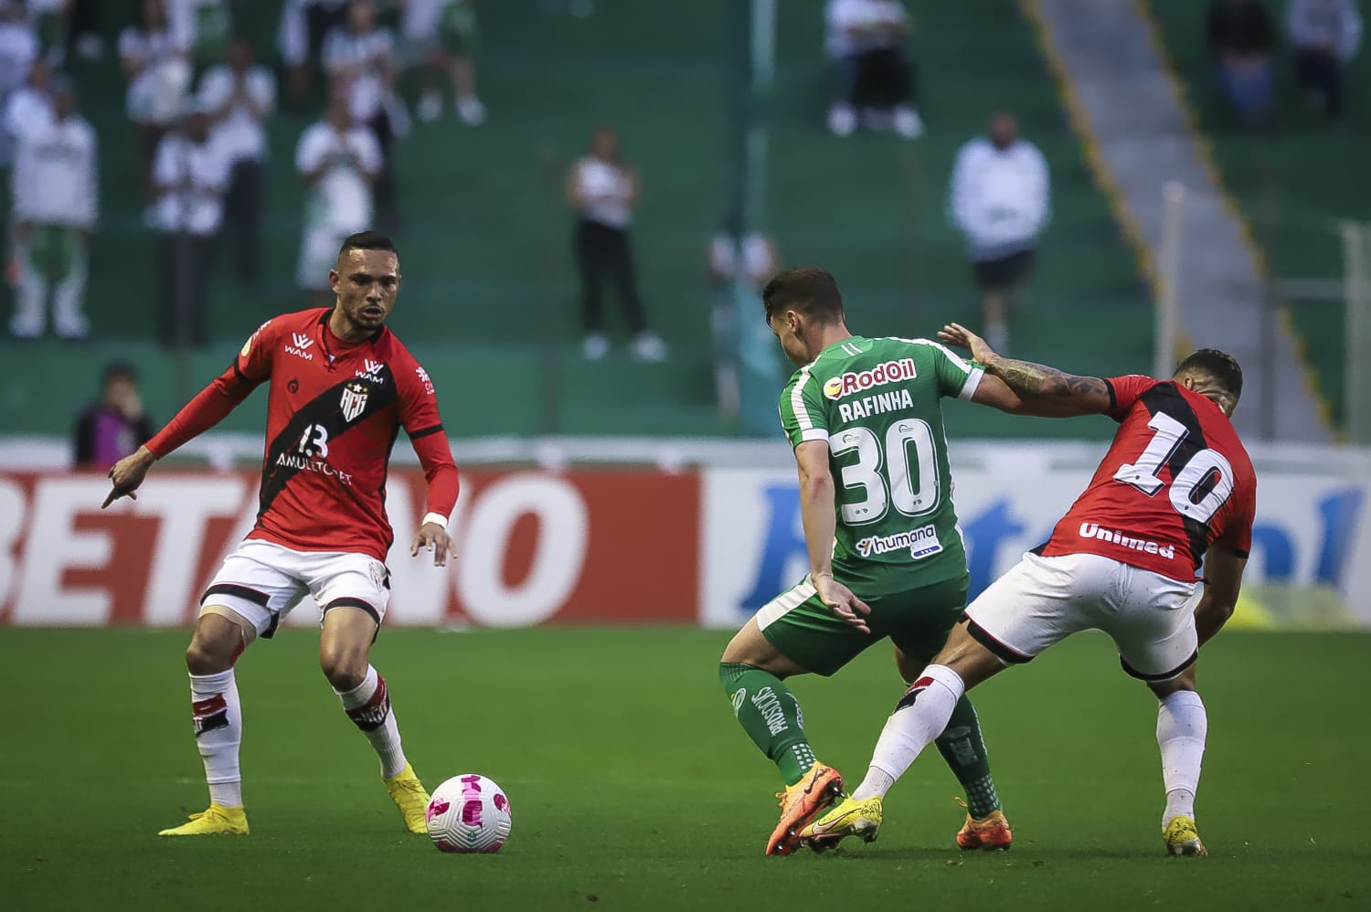
[[[850,136],[858,125],[887,123],[906,139],[924,132],[914,110],[914,69],[902,44],[909,18],[899,0],[828,0],[828,58],[838,73],[838,100],[828,129]]]

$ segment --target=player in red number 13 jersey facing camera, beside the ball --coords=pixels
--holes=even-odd
[[[210,808],[160,835],[245,834],[239,745],[243,710],[233,665],[269,639],[296,601],[319,608],[319,665],[343,709],[381,758],[381,775],[411,832],[425,832],[428,793],[406,761],[372,642],[385,617],[393,532],[385,473],[400,428],[428,479],[422,527],[410,542],[446,565],[447,517],[458,476],[428,373],[385,328],[400,289],[395,245],[352,235],[329,272],[333,307],[262,324],[228,370],[202,389],[147,446],[110,469],[104,506],[136,498],[154,462],[218,424],[259,384],[270,384],[260,510],[200,602],[185,653],[191,712]]]

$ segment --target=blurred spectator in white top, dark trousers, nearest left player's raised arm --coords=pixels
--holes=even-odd
[[[162,232],[159,335],[163,344],[203,346],[214,239],[223,219],[229,159],[210,141],[210,117],[195,107],[158,144],[152,166]]]

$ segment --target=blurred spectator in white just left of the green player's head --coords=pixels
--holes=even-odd
[[[750,346],[739,339],[740,332],[754,332],[747,320],[761,311],[761,291],[780,270],[776,241],[762,232],[751,232],[742,239],[733,236],[736,217],[725,219],[709,241],[709,284],[712,291],[710,329],[714,336],[714,389],[718,410],[725,418],[738,416],[742,405],[739,359],[744,355],[773,361],[775,340],[771,329],[761,333],[761,346]],[[746,288],[749,306],[739,307],[738,295]],[[761,325],[761,321],[755,321]],[[766,366],[771,366],[768,363]]]

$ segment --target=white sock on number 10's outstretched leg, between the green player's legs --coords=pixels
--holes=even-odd
[[[930,665],[905,693],[876,741],[871,769],[853,798],[886,797],[924,747],[941,735],[967,687],[946,665]]]

